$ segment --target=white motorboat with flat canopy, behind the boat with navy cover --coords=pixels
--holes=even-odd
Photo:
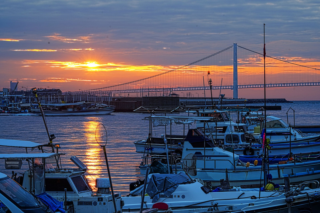
[[[225,114],[226,112],[219,112],[221,114]],[[216,115],[219,116],[219,115]],[[156,126],[165,126],[172,124],[184,124],[183,125],[183,132],[186,132],[188,128],[186,128],[187,124],[194,124],[196,123],[196,127],[199,130],[204,129],[204,127],[212,126],[212,123],[215,123],[216,118],[214,117],[204,117],[204,116],[148,116],[145,117],[144,120],[149,121],[149,134],[148,138],[145,140],[138,140],[134,142],[136,147],[136,152],[144,153],[144,154],[162,154],[166,152],[166,147],[164,143],[164,138],[167,139],[167,150],[169,152],[173,152],[176,150],[182,150],[184,144],[184,134],[181,135],[170,135],[170,134],[160,134],[160,136],[155,137],[153,136],[153,129]],[[218,123],[218,122],[217,122]],[[236,125],[232,126],[232,122],[222,122],[223,127],[225,129],[224,133],[221,133],[219,138],[223,136],[223,142],[221,140],[215,141],[217,144],[222,145],[222,147],[228,151],[233,151],[235,154],[238,155],[255,155],[258,156],[262,154],[262,143],[259,139],[258,142],[253,142],[248,137],[246,138],[246,134],[243,131],[239,131],[236,128]],[[228,125],[228,123],[231,123]],[[199,125],[203,126],[199,128]],[[221,124],[222,125],[222,124]],[[181,125],[180,125],[181,126]],[[181,129],[181,128],[180,128]],[[227,131],[228,129],[228,131]],[[259,128],[260,129],[260,128]],[[207,130],[206,130],[207,131]],[[267,129],[267,132],[269,130]],[[288,131],[288,130],[287,130]],[[163,130],[165,132],[165,130]],[[181,130],[182,132],[182,130]],[[216,138],[216,134],[212,134],[210,131],[207,132],[208,135],[212,140]],[[159,135],[159,134],[158,134]],[[261,133],[257,134],[261,137]],[[272,136],[274,137],[274,136]],[[305,138],[305,137],[304,137]],[[301,140],[290,140],[290,137],[287,138],[287,142],[276,143],[274,140],[271,140],[269,143],[270,149],[268,150],[269,155],[286,155],[289,153],[292,154],[317,154],[320,153],[320,137],[311,137],[312,140],[310,141],[301,141]]]

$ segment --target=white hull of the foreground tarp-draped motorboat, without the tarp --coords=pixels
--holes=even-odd
[[[250,213],[278,213],[288,212],[288,205],[284,191],[220,191],[204,193],[199,182],[181,184],[170,195],[160,194],[155,202],[168,204],[174,213],[196,213],[196,212],[250,212]],[[297,208],[307,207],[317,209],[317,201],[309,199],[311,194],[317,195],[317,189],[309,189],[303,193],[295,193],[291,204],[292,212],[300,212]],[[308,194],[306,194],[308,193]],[[313,197],[313,195],[311,195]],[[259,198],[259,199],[256,199]],[[139,211],[141,196],[122,197],[124,201],[123,212]],[[311,202],[309,202],[311,201]],[[144,197],[143,209],[153,206],[152,199],[148,195]],[[211,210],[209,210],[211,208]],[[214,208],[214,209],[213,209]],[[295,208],[295,209],[294,209]],[[280,210],[280,211],[279,211]]]

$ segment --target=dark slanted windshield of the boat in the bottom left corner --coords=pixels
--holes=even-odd
[[[0,179],[0,193],[19,208],[39,208],[41,203],[10,177]]]

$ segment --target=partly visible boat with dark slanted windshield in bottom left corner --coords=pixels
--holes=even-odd
[[[53,213],[35,195],[3,173],[0,173],[0,212]],[[61,213],[59,209],[54,212]]]

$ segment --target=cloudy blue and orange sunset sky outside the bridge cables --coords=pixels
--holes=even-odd
[[[233,43],[262,53],[264,23],[268,56],[319,68],[318,0],[3,0],[0,88],[17,80],[20,87],[62,91],[111,86]],[[278,88],[276,98],[320,100],[319,93],[297,96],[319,89],[295,88],[292,96],[292,88]]]

